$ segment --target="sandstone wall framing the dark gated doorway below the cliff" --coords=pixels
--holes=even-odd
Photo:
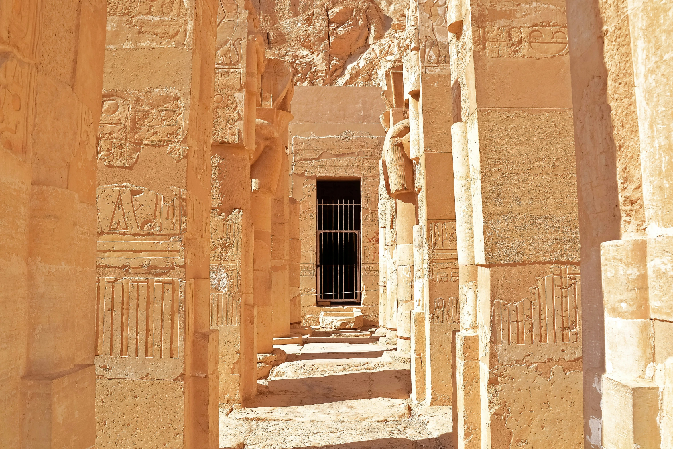
[[[297,87],[290,123],[291,193],[299,201],[302,318],[317,325],[316,180],[360,179],[362,312],[378,323],[378,178],[385,106],[380,88]],[[351,308],[347,308],[351,310]]]

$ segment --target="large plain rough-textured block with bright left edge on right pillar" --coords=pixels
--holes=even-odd
[[[571,112],[479,110],[472,120],[475,263],[579,261]],[[505,132],[516,137],[502,139]]]

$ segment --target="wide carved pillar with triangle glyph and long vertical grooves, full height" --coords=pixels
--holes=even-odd
[[[212,0],[108,8],[96,200],[99,446],[217,447],[208,242],[216,11]]]

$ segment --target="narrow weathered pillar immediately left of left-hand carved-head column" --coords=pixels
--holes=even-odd
[[[250,160],[264,71],[259,21],[244,1],[218,7],[211,147],[211,327],[219,331],[220,403],[257,392]],[[242,98],[239,104],[236,98]]]

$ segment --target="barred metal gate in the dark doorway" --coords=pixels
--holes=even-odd
[[[360,200],[318,201],[318,300],[360,302]]]

